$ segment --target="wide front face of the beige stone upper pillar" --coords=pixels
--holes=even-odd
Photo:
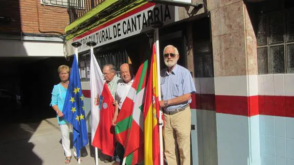
[[[209,2],[215,3],[211,3],[214,75],[246,75],[243,2]]]

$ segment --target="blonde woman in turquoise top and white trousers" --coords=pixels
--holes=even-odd
[[[67,86],[69,85],[70,67],[67,65],[60,65],[58,67],[58,74],[61,82],[54,85],[52,90],[51,106],[56,111],[57,121],[60,126],[62,146],[65,154],[65,163],[70,163],[72,152],[70,148],[70,123],[63,119],[63,105],[66,96]],[[76,156],[76,152],[74,151]]]

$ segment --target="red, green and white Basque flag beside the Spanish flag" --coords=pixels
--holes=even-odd
[[[148,60],[139,67],[117,119],[116,138],[125,149],[127,165],[144,161],[143,107],[147,68]]]

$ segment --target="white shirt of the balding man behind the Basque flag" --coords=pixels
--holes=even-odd
[[[132,86],[134,79],[132,79],[129,83],[124,83],[121,79],[118,81],[117,92],[116,92],[116,101],[119,103],[119,109],[122,108],[123,102],[125,101],[128,92]]]

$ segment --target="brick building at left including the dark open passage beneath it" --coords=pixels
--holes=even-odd
[[[0,89],[21,98],[21,114],[18,117],[11,108],[13,117],[7,120],[29,118],[34,111],[39,116],[55,115],[49,106],[50,93],[60,81],[57,67],[70,64],[64,58],[64,28],[73,21],[75,4],[67,0],[0,0]]]

